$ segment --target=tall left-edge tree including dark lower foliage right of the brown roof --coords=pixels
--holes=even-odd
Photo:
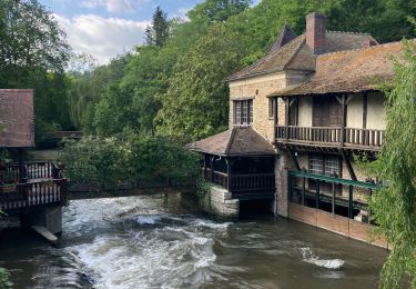
[[[0,88],[34,89],[38,123],[71,126],[63,71],[69,58],[63,30],[39,1],[0,2]]]

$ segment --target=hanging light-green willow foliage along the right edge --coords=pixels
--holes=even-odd
[[[397,63],[387,94],[385,143],[371,169],[388,183],[372,200],[378,232],[392,245],[381,288],[416,288],[416,44],[406,43],[406,66]]]

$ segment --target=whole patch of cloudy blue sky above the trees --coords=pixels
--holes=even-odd
[[[100,64],[143,43],[144,29],[160,6],[168,18],[185,17],[203,0],[40,0],[54,16],[77,53]]]

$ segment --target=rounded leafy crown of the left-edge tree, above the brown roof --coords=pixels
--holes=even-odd
[[[32,84],[33,73],[62,72],[70,47],[58,22],[37,0],[0,3],[0,83]]]

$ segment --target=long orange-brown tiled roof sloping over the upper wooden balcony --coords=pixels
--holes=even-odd
[[[316,72],[297,86],[270,96],[359,92],[376,89],[381,81],[394,77],[392,56],[403,51],[402,42],[392,42],[348,51],[321,54]]]

